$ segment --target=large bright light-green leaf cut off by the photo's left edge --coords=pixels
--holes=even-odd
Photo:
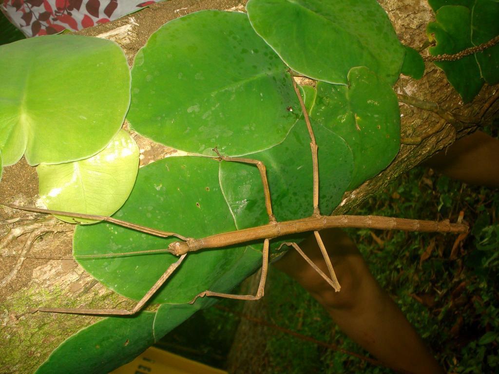
[[[130,71],[114,42],[51,35],[0,46],[0,149],[4,165],[88,158],[120,129]]]

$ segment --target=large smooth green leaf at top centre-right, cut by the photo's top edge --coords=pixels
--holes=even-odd
[[[250,0],[251,25],[289,65],[307,77],[347,84],[367,66],[390,84],[404,48],[376,0]]]

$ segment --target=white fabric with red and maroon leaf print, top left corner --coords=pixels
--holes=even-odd
[[[109,22],[156,1],[0,0],[0,9],[26,36],[76,31]]]

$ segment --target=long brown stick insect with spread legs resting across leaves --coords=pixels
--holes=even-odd
[[[264,295],[264,287],[265,280],[268,268],[268,257],[269,257],[269,241],[271,239],[295,233],[302,232],[310,232],[313,231],[314,237],[317,241],[317,244],[320,248],[324,261],[327,265],[327,272],[325,274],[322,272],[311,260],[306,256],[306,254],[300,249],[299,245],[295,242],[284,242],[282,245],[287,245],[289,247],[294,248],[309,264],[313,267],[313,269],[336,291],[339,292],[341,286],[338,282],[336,274],[334,272],[333,265],[329,259],[326,248],[322,242],[319,231],[325,228],[332,227],[366,227],[366,228],[378,228],[378,229],[400,229],[407,231],[426,231],[426,232],[467,232],[468,226],[461,223],[450,223],[449,221],[443,222],[434,222],[434,221],[422,221],[422,220],[413,220],[413,219],[405,219],[405,218],[392,218],[392,217],[382,217],[382,216],[351,216],[351,215],[340,215],[340,216],[326,216],[321,215],[319,209],[319,165],[318,165],[318,156],[317,150],[318,146],[315,142],[315,136],[312,130],[312,126],[310,124],[310,119],[308,117],[308,113],[305,109],[305,105],[301,98],[299,89],[296,85],[294,79],[292,79],[293,87],[295,93],[298,97],[302,113],[305,119],[305,123],[308,129],[308,133],[310,136],[310,149],[312,153],[312,170],[313,170],[313,194],[312,194],[312,204],[313,204],[313,213],[310,217],[290,220],[290,221],[282,221],[279,222],[276,220],[273,212],[272,212],[272,204],[271,204],[271,196],[269,191],[269,186],[266,177],[266,169],[264,164],[261,161],[247,159],[247,158],[238,158],[238,157],[228,157],[221,155],[219,151],[215,148],[214,151],[217,154],[217,157],[214,157],[219,162],[236,162],[236,163],[244,163],[251,164],[258,168],[260,174],[260,180],[263,185],[263,193],[265,200],[265,208],[266,213],[268,215],[268,223],[251,227],[247,229],[241,229],[236,231],[230,231],[220,234],[215,234],[211,236],[207,236],[204,238],[191,238],[186,237],[174,232],[165,232],[156,230],[154,228],[145,227],[141,225],[137,225],[131,222],[126,222],[123,220],[119,220],[113,217],[105,217],[100,215],[93,214],[81,214],[81,213],[70,213],[65,211],[57,211],[57,210],[47,210],[47,209],[39,209],[39,208],[31,208],[31,207],[20,207],[15,205],[7,205],[11,208],[41,212],[41,213],[50,213],[50,214],[59,214],[66,215],[75,218],[85,218],[85,219],[97,219],[103,220],[111,223],[115,223],[127,228],[131,228],[137,231],[141,231],[144,233],[152,234],[159,237],[169,237],[174,236],[178,238],[178,241],[170,243],[167,248],[159,249],[159,250],[149,250],[149,251],[139,251],[139,252],[124,252],[124,253],[113,253],[109,255],[118,256],[118,255],[130,255],[130,254],[142,254],[142,253],[159,253],[159,252],[170,252],[174,255],[179,256],[178,260],[171,264],[164,274],[156,281],[156,283],[150,288],[150,290],[142,297],[141,300],[137,302],[137,304],[131,309],[89,309],[89,308],[35,308],[30,309],[25,314],[33,314],[36,312],[48,312],[48,313],[68,313],[68,314],[85,314],[85,315],[107,315],[107,316],[123,316],[123,315],[134,315],[139,312],[145,304],[151,299],[151,297],[156,293],[156,291],[168,280],[168,278],[180,267],[184,259],[187,257],[189,252],[198,251],[207,248],[222,248],[233,244],[245,243],[252,240],[263,239],[263,250],[262,250],[262,271],[261,277],[258,285],[258,289],[255,295],[234,295],[228,293],[219,293],[210,290],[203,291],[196,295],[191,303],[194,303],[199,297],[223,297],[223,298],[231,298],[231,299],[239,299],[239,300],[258,300]],[[96,258],[96,257],[106,257],[108,255],[89,255],[89,256],[79,256],[79,258]],[[21,315],[21,316],[22,316]],[[20,317],[20,316],[18,316]]]

